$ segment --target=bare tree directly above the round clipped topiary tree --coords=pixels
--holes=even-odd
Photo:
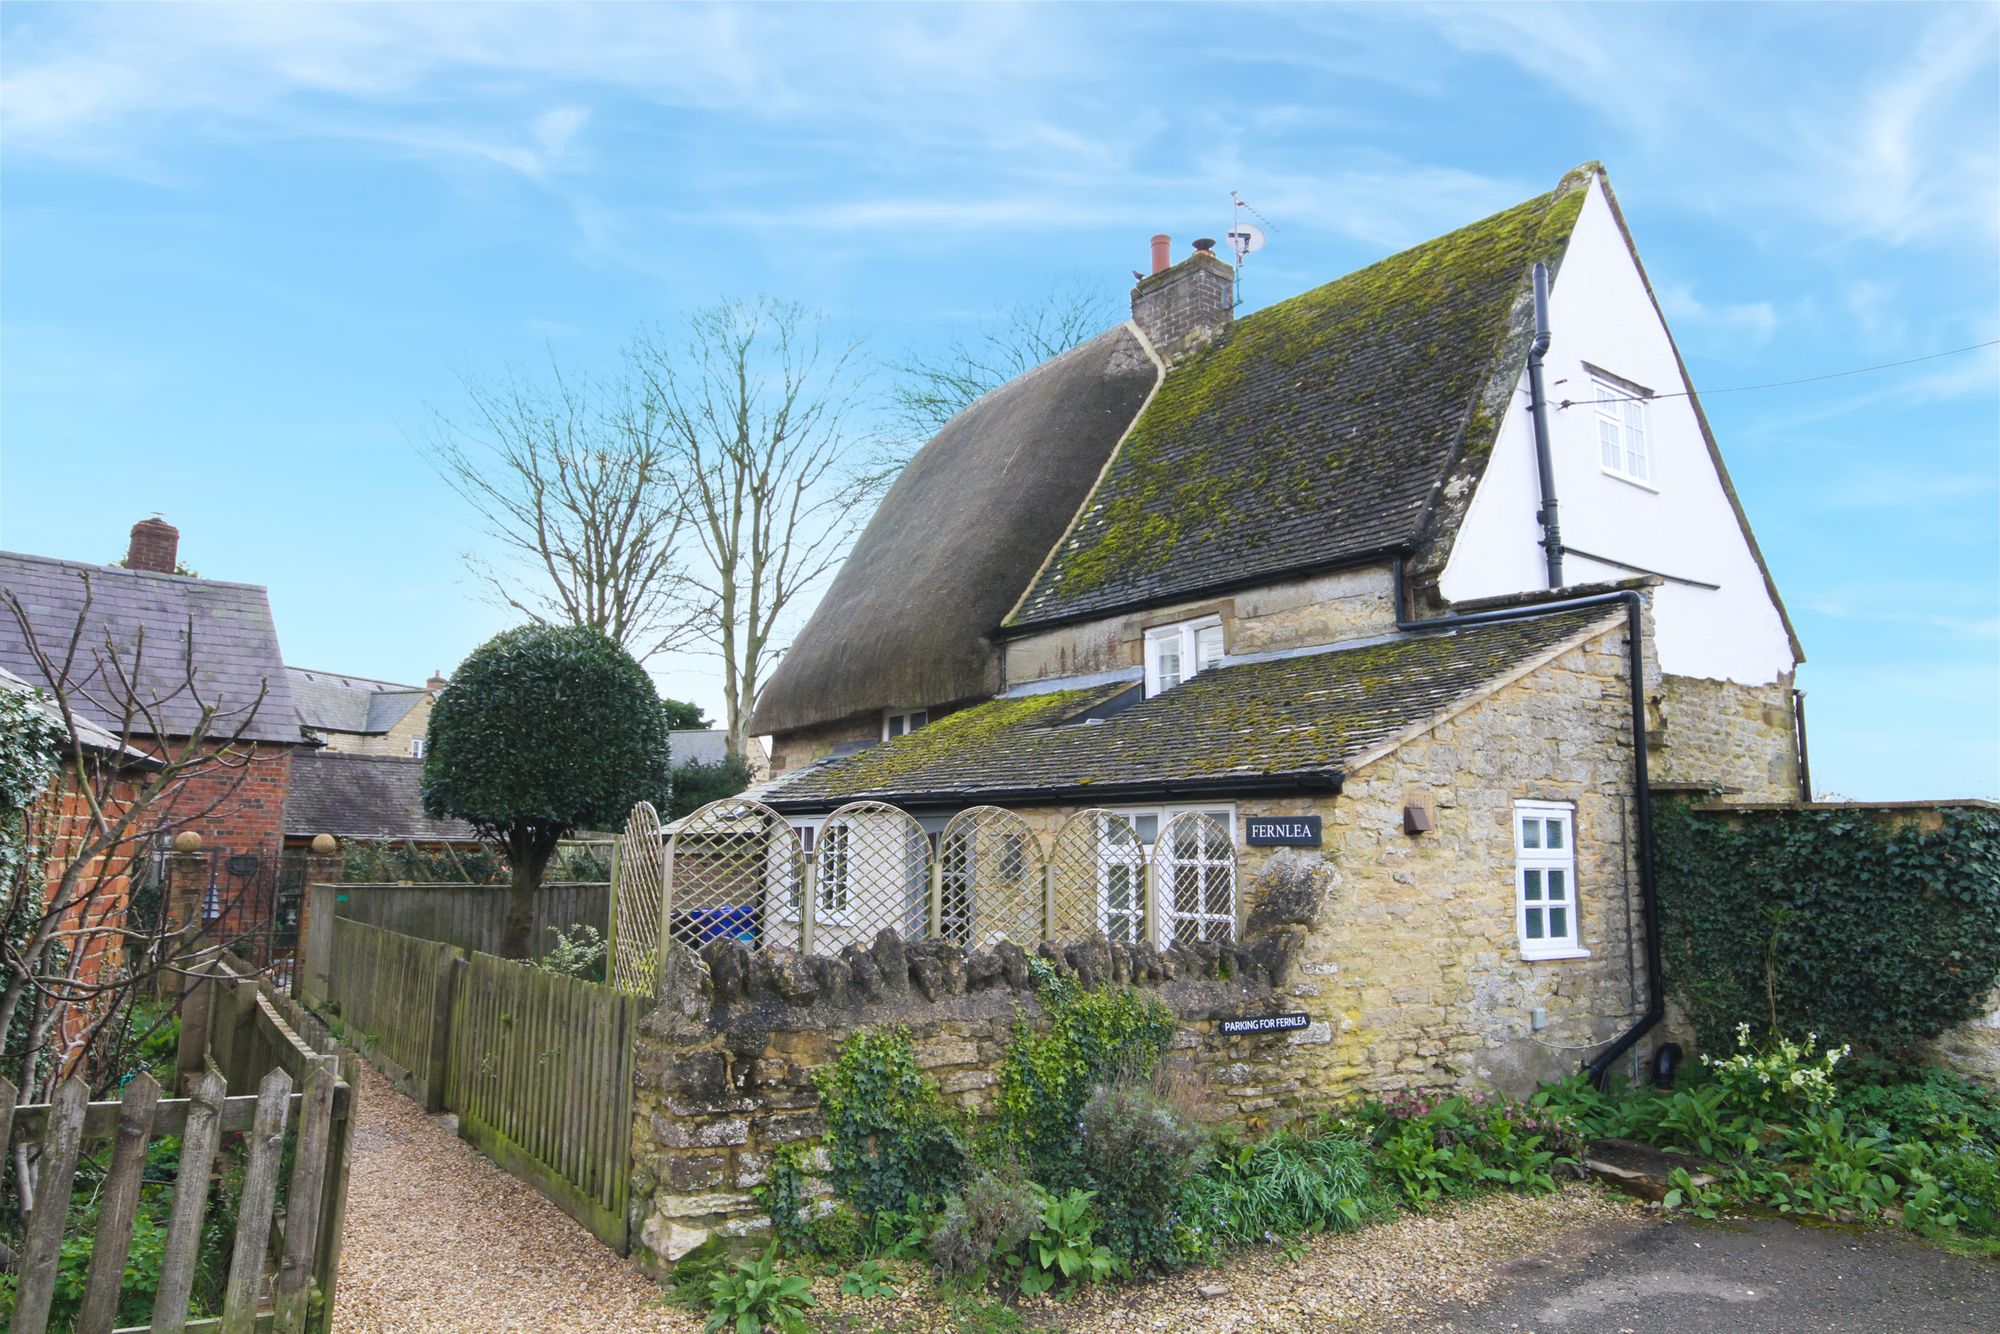
[[[512,558],[468,568],[524,616],[602,630],[640,662],[692,642],[674,458],[644,408],[554,364],[548,384],[464,386],[468,416],[440,414],[424,452]]]

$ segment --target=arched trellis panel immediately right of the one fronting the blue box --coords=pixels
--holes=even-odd
[[[884,802],[848,802],[826,816],[812,852],[804,948],[834,954],[866,946],[884,926],[904,940],[930,934],[930,836]]]

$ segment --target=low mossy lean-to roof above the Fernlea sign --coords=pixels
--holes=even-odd
[[[756,796],[778,810],[816,810],[862,798],[1090,800],[1120,786],[1198,792],[1266,778],[1336,780],[1410,728],[1620,616],[1620,608],[1572,608],[1222,666],[1102,722],[1072,720],[1134,684],[988,700],[778,778]]]

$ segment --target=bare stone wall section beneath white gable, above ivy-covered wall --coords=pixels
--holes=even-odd
[[[1792,674],[1764,686],[1664,676],[1654,696],[1652,780],[1700,784],[1746,802],[1798,798]]]

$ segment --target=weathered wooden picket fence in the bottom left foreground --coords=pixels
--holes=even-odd
[[[216,1000],[218,988],[228,992],[224,1002]],[[248,998],[240,988],[248,990]],[[282,1010],[258,992],[256,982],[220,964],[196,984],[188,1006],[194,1022],[206,1032],[206,1016],[226,1010],[234,1048],[222,1052],[222,1062],[216,1052],[198,1050],[206,1070],[192,1080],[188,1098],[162,1098],[160,1084],[140,1074],[124,1086],[118,1102],[90,1102],[90,1090],[72,1078],[56,1088],[54,1102],[16,1106],[14,1084],[0,1080],[0,1144],[32,1164],[28,1176],[34,1184],[16,1272],[16,1334],[42,1334],[48,1324],[76,1166],[88,1144],[106,1140],[110,1168],[98,1194],[82,1304],[70,1328],[76,1334],[114,1330],[144,1188],[146,1148],[162,1138],[180,1140],[180,1164],[160,1282],[150,1324],[128,1328],[224,1334],[332,1328],[354,1092],[340,1078],[338,1058],[306,1048]],[[224,1064],[236,1066],[232,1074],[238,1074],[252,1062],[268,1066],[254,1082],[256,1094],[230,1096]],[[216,1156],[222,1136],[240,1132],[250,1132],[248,1162],[222,1314],[190,1318]],[[292,1174],[280,1204],[288,1132]]]

